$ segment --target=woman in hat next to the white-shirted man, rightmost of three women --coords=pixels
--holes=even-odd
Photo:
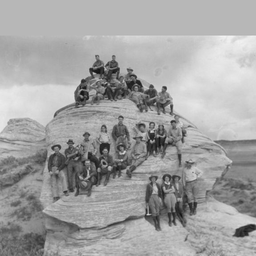
[[[184,196],[184,189],[183,184],[179,181],[181,179],[178,175],[172,176],[172,184],[173,188],[175,189],[175,196],[176,196],[176,214],[180,219],[181,224],[185,227],[187,220],[185,219],[184,212],[183,212],[183,196]]]

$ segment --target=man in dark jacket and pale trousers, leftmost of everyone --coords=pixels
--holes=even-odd
[[[65,196],[68,196],[67,181],[64,174],[65,167],[65,156],[60,153],[61,146],[59,144],[53,145],[52,150],[54,154],[49,157],[48,160],[48,171],[50,174],[50,180],[52,185],[53,202],[60,199],[58,193],[58,181],[60,180],[62,191]]]

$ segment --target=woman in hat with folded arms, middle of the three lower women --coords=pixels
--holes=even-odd
[[[167,212],[168,212],[168,218],[169,218],[169,226],[172,226],[173,224],[176,226],[176,210],[175,210],[175,204],[176,204],[176,196],[174,195],[175,189],[173,188],[171,184],[172,176],[170,174],[164,174],[163,176],[163,194],[164,194],[164,204],[167,206]],[[173,221],[172,217],[173,216]]]

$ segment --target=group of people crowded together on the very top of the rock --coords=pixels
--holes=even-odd
[[[93,88],[95,94],[92,96],[91,104],[100,104],[100,100],[108,98],[108,100],[122,100],[128,98],[132,100],[140,112],[144,110],[147,112],[148,108],[152,110],[151,106],[156,104],[157,114],[160,115],[160,108],[163,109],[165,114],[165,108],[170,105],[170,115],[173,116],[173,101],[170,94],[167,92],[167,87],[163,86],[161,92],[157,92],[153,84],[150,84],[147,90],[140,80],[137,79],[136,74],[133,73],[132,68],[127,68],[127,74],[120,76],[120,68],[116,61],[116,56],[112,56],[112,60],[104,66],[104,62],[100,60],[100,56],[96,55],[96,62],[89,68],[91,79],[94,79],[93,73],[100,74],[99,80],[90,85],[90,79],[82,79],[79,86],[75,91],[76,108],[79,104],[85,105],[89,100],[89,89]],[[106,68],[106,72],[104,71]],[[112,74],[116,74],[116,78],[112,77]],[[152,110],[153,111],[153,110]]]

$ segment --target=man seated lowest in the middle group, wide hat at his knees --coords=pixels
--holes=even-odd
[[[92,186],[97,183],[97,172],[95,164],[92,163],[89,159],[86,159],[84,162],[84,166],[82,172],[76,173],[76,194],[78,196],[80,194],[87,194],[87,196],[91,196]]]

